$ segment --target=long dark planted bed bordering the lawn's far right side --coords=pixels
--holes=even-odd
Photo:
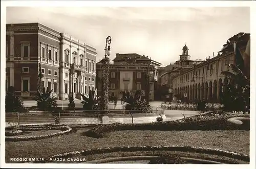
[[[231,117],[245,116],[248,114],[218,114],[206,113],[188,118],[177,119],[162,123],[150,124],[121,124],[101,125],[86,132],[87,136],[101,138],[105,133],[121,130],[250,130],[249,121],[241,126],[229,125],[227,119]]]

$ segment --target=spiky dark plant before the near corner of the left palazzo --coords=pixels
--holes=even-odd
[[[42,88],[42,92],[39,90],[37,91],[36,96],[36,102],[37,102],[37,108],[39,110],[54,110],[57,108],[57,98],[51,96],[52,90],[49,91],[49,88],[47,87],[47,90],[45,87]]]

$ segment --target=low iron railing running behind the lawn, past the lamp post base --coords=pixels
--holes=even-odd
[[[111,124],[111,123],[143,123],[143,118],[157,118],[164,114],[163,108],[153,107],[152,110],[56,110],[56,111],[29,111],[27,113],[6,113],[6,123],[22,124],[52,124],[58,118],[60,124]],[[104,117],[104,118],[103,118]],[[144,123],[148,121],[144,120]]]

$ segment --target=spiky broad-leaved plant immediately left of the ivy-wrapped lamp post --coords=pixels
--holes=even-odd
[[[81,94],[81,96],[83,99],[81,104],[84,110],[100,110],[102,100],[97,97],[97,89],[95,91],[89,91],[89,98],[83,94]]]

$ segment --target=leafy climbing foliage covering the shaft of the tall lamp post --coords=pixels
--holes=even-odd
[[[101,61],[102,70],[102,107],[101,110],[109,109],[109,69],[110,69],[110,59],[108,57],[103,58]]]

